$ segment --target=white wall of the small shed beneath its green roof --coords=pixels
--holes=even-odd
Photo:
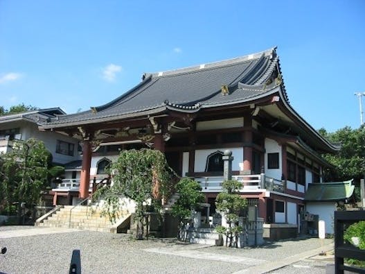
[[[311,214],[319,215],[319,220],[323,220],[326,225],[326,233],[333,234],[333,220],[335,216],[335,202],[327,203],[307,203],[307,211]]]

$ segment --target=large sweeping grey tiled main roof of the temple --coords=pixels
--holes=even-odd
[[[145,74],[139,85],[114,101],[86,112],[61,115],[47,123],[46,128],[113,121],[168,108],[193,112],[199,108],[249,101],[269,92],[263,84],[278,66],[276,50],[269,49],[231,60]],[[252,89],[242,88],[241,84]],[[222,94],[222,86],[228,87],[228,95]]]

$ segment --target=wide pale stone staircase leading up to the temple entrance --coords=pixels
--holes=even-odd
[[[72,209],[72,210],[71,210]],[[71,214],[71,216],[70,216]],[[126,232],[130,227],[129,212],[121,212],[116,223],[109,221],[108,216],[100,216],[101,209],[97,205],[73,205],[55,209],[37,219],[35,225],[48,228],[78,228],[80,230],[94,230],[100,232]]]

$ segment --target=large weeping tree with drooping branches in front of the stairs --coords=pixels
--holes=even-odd
[[[113,174],[113,185],[100,189],[96,196],[105,199],[104,211],[112,221],[118,217],[121,197],[134,200],[136,238],[143,239],[143,220],[147,205],[157,210],[161,208],[161,198],[169,195],[170,173],[165,155],[161,151],[147,148],[121,151],[110,171]]]

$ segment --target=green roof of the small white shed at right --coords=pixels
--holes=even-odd
[[[304,199],[316,202],[345,200],[353,195],[355,186],[352,182],[353,180],[309,184]]]

